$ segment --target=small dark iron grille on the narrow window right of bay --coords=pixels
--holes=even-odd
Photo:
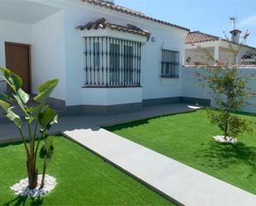
[[[176,50],[162,50],[162,78],[179,78],[180,52]]]

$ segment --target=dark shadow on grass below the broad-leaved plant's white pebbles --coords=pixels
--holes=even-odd
[[[29,204],[27,204],[27,199],[29,199]],[[38,206],[43,204],[43,198],[36,197],[36,198],[27,198],[27,197],[21,197],[17,196],[17,198],[10,200],[6,204],[3,204],[4,206],[11,206],[11,205],[31,205],[31,206]]]

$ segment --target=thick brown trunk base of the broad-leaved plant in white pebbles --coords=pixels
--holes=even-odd
[[[36,162],[34,161],[34,155],[31,154],[27,157],[27,178],[29,189],[35,189],[37,186],[37,173]]]

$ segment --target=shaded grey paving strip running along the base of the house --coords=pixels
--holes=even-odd
[[[113,115],[64,116],[59,117],[59,123],[52,127],[51,132],[55,133],[79,128],[86,129],[94,126],[111,126],[123,122],[131,122],[150,117],[159,117],[167,114],[191,112],[195,109],[196,108],[191,108],[185,103],[173,103],[142,108],[142,110],[133,113],[119,113]],[[24,132],[27,133],[27,131]],[[13,126],[12,122],[0,122],[0,144],[17,140],[20,140],[19,133],[17,132],[17,129]]]

